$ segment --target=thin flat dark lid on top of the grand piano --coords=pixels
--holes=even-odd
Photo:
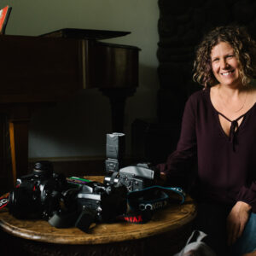
[[[130,33],[131,32],[95,30],[95,29],[62,28],[54,32],[48,32],[43,35],[40,35],[40,37],[102,40],[102,39],[108,39],[108,38],[123,37]]]

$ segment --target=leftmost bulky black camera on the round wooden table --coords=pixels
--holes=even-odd
[[[60,208],[66,178],[53,172],[49,161],[35,163],[31,174],[19,177],[9,194],[9,212],[16,218],[49,219]]]

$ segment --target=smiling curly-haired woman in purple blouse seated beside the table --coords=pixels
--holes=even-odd
[[[195,229],[217,255],[256,250],[255,73],[256,44],[244,28],[209,32],[195,58],[194,79],[204,90],[189,97],[177,150],[158,166],[175,183],[197,160]]]

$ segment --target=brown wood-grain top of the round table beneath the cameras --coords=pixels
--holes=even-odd
[[[102,181],[103,177],[86,177]],[[175,233],[195,218],[194,202],[187,197],[183,205],[173,204],[155,212],[147,224],[95,224],[88,233],[77,228],[57,229],[45,220],[20,220],[9,214],[8,209],[0,211],[0,227],[10,235],[32,241],[54,244],[93,245],[119,241],[132,241],[166,232]]]

